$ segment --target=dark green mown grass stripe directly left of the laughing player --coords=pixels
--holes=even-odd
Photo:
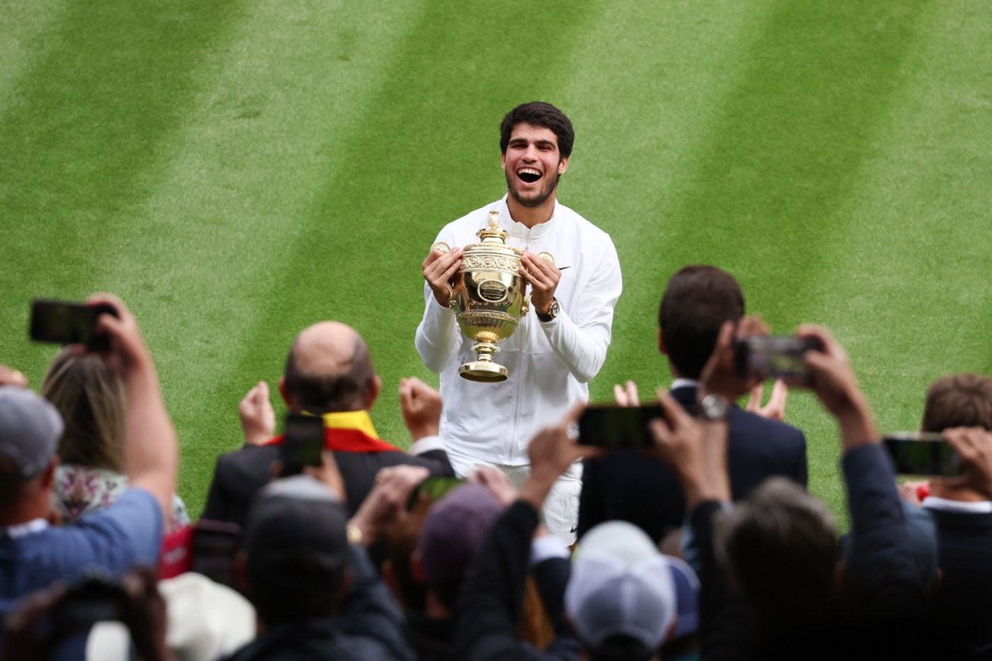
[[[421,261],[447,221],[505,191],[498,125],[513,105],[557,100],[569,34],[588,16],[554,7],[524,7],[512,39],[491,38],[505,7],[464,11],[432,2],[378,79],[366,113],[334,158],[343,167],[318,190],[282,270],[282,292],[245,352],[266,355],[281,373],[289,340],[321,319],[353,326],[369,342],[385,387],[373,414],[384,438],[409,443],[399,416],[401,377],[436,382],[413,346],[423,312]],[[548,31],[551,17],[555,30]],[[561,20],[564,18],[565,20]],[[549,54],[521,77],[522,58],[540,44]]]

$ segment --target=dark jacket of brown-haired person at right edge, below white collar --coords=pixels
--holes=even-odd
[[[992,513],[927,508],[937,529],[940,592],[933,621],[961,659],[992,658]]]

